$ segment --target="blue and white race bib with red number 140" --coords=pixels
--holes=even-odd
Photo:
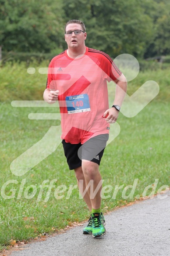
[[[66,97],[68,114],[90,111],[88,94],[80,94]]]

